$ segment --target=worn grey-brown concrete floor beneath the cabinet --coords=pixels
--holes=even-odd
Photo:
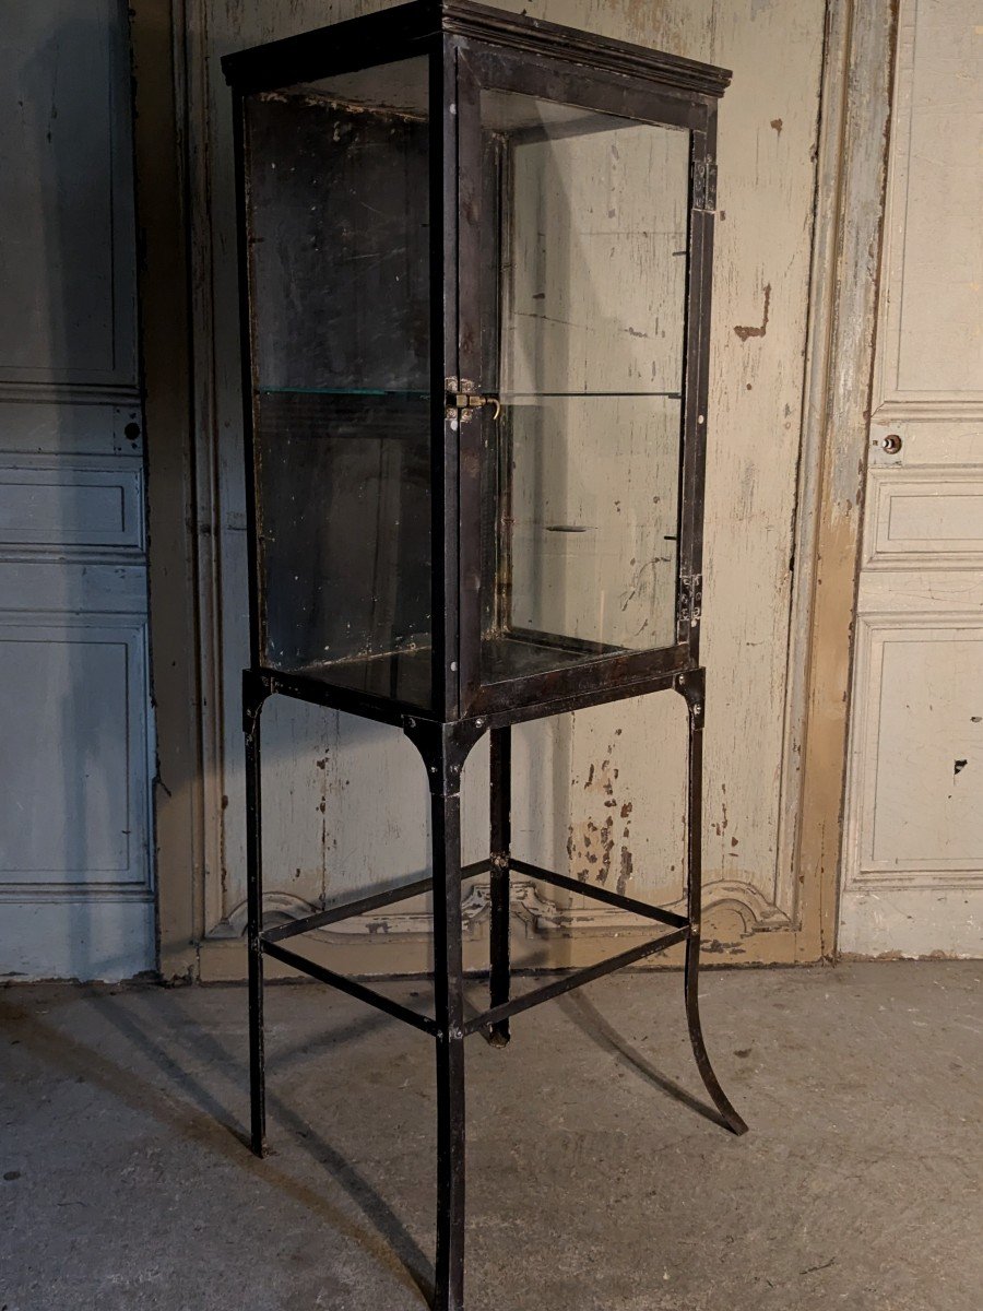
[[[739,1139],[691,1100],[679,975],[471,1040],[468,1311],[979,1311],[979,978],[705,975]],[[261,1163],[244,990],[0,991],[3,1311],[426,1304],[430,1041],[320,987],[267,995]]]

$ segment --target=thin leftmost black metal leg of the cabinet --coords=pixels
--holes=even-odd
[[[262,804],[260,714],[262,701],[245,707],[246,745],[246,947],[249,952],[249,1105],[250,1139],[266,1155],[266,1066],[263,1059]]]

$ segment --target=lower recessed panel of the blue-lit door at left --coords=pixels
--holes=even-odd
[[[42,679],[37,688],[29,671]],[[0,614],[0,686],[7,730],[16,738],[33,734],[5,788],[4,805],[22,825],[5,826],[0,840],[0,898],[42,889],[145,898],[152,888],[145,623],[97,612]],[[18,853],[33,855],[33,863],[18,861]]]

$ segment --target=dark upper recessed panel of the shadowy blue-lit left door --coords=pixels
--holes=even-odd
[[[135,393],[126,5],[9,5],[4,29],[0,77],[17,88],[20,113],[0,119],[5,205],[17,215],[17,232],[5,239],[14,257],[0,325],[0,400],[17,388],[28,396],[34,388]]]

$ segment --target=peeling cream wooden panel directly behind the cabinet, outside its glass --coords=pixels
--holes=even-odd
[[[211,785],[222,826],[212,827],[204,889],[207,927],[219,935],[228,931],[244,893],[237,679],[245,652],[245,544],[229,108],[216,56],[370,8],[381,7],[322,0],[187,5],[197,333],[204,366],[198,405],[203,440],[215,434],[218,471],[201,513],[220,547],[214,691],[225,709],[216,724]],[[815,954],[815,924],[800,933],[797,871],[780,861],[779,847],[782,805],[794,810],[798,780],[788,767],[798,742],[785,734],[786,665],[790,637],[800,636],[790,633],[792,557],[824,5],[512,0],[506,8],[734,69],[721,113],[708,416],[709,923],[737,958]],[[301,707],[273,708],[270,718],[271,882],[316,902],[425,863],[422,770],[405,745],[396,745],[396,734],[389,746],[381,729]],[[682,888],[683,726],[682,703],[665,695],[523,729],[516,848],[578,874],[594,871],[634,895],[675,899]],[[782,776],[792,788],[784,798]],[[468,842],[477,847],[485,808],[469,794],[465,809]],[[596,863],[587,859],[594,853]],[[279,880],[274,869],[282,871]],[[596,922],[594,911],[585,914]],[[772,932],[756,932],[763,928]],[[396,960],[364,957],[364,966],[387,969]]]

